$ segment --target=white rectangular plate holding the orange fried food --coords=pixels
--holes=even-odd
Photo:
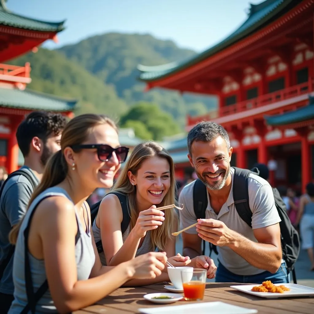
[[[281,284],[275,284],[280,286]],[[314,288],[301,286],[300,284],[284,284],[287,288],[290,288],[290,291],[285,291],[284,293],[272,293],[272,292],[255,292],[251,291],[252,287],[259,286],[259,284],[248,284],[248,285],[239,285],[231,286],[230,288],[239,290],[244,293],[251,295],[257,295],[261,298],[267,299],[277,299],[277,298],[288,298],[288,297],[299,297],[299,296],[311,296],[314,297]]]

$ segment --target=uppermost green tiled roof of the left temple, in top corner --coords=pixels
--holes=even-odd
[[[6,8],[4,1],[0,0],[0,25],[42,32],[60,32],[64,29],[64,22],[45,22],[14,14]]]

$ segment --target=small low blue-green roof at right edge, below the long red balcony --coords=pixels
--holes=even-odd
[[[268,125],[279,126],[314,119],[314,97],[310,97],[308,106],[276,116],[266,116]]]

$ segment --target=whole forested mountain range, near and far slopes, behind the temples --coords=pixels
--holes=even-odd
[[[154,103],[170,113],[181,129],[185,116],[204,114],[216,107],[213,97],[181,96],[176,91],[143,92],[137,65],[159,65],[195,54],[172,41],[151,35],[108,33],[90,37],[58,50],[40,48],[11,62],[31,64],[29,88],[79,100],[76,113],[106,113],[113,118],[126,114],[139,102]],[[175,132],[175,131],[174,131]]]

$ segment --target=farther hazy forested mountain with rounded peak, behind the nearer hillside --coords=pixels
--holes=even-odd
[[[113,84],[119,97],[131,105],[138,101],[153,102],[183,126],[187,113],[204,114],[216,107],[213,97],[184,95],[175,91],[153,89],[144,93],[144,84],[137,81],[137,65],[159,65],[183,60],[195,54],[173,41],[151,35],[107,33],[90,37],[59,49],[106,84]]]

